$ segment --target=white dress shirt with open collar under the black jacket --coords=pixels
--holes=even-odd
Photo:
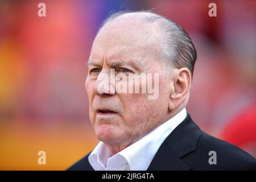
[[[143,138],[111,156],[105,143],[100,142],[89,155],[89,163],[100,171],[146,171],[164,140],[187,117],[184,108],[174,117],[156,127]]]

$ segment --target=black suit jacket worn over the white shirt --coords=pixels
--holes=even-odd
[[[217,164],[209,164],[210,151]],[[68,170],[93,170],[88,155]],[[200,130],[189,114],[164,140],[147,170],[256,170],[256,159]]]

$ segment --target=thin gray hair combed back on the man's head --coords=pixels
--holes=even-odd
[[[197,59],[196,48],[188,33],[179,24],[164,16],[152,13],[151,11],[119,11],[118,13],[111,14],[101,24],[99,31],[118,16],[133,13],[138,15],[136,18],[141,18],[146,23],[159,24],[164,36],[163,56],[166,58],[168,65],[172,65],[175,68],[188,68],[193,76],[194,65]]]

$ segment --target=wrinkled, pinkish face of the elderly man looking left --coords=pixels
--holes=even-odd
[[[160,39],[154,36],[157,31],[152,25],[113,22],[94,40],[85,88],[96,137],[106,144],[129,145],[168,119],[170,89],[168,77],[164,76],[166,68],[159,56]],[[129,73],[158,73],[159,97],[148,100],[152,94],[99,93],[98,78],[102,74],[109,75],[110,69],[127,78]],[[153,85],[154,81],[152,76]],[[142,83],[139,84],[141,87]]]

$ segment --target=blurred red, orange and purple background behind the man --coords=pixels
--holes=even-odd
[[[217,17],[208,15],[211,2]],[[148,9],[175,20],[195,44],[192,118],[256,156],[255,1],[1,0],[1,170],[64,170],[93,150],[84,81],[94,36],[110,12]]]

